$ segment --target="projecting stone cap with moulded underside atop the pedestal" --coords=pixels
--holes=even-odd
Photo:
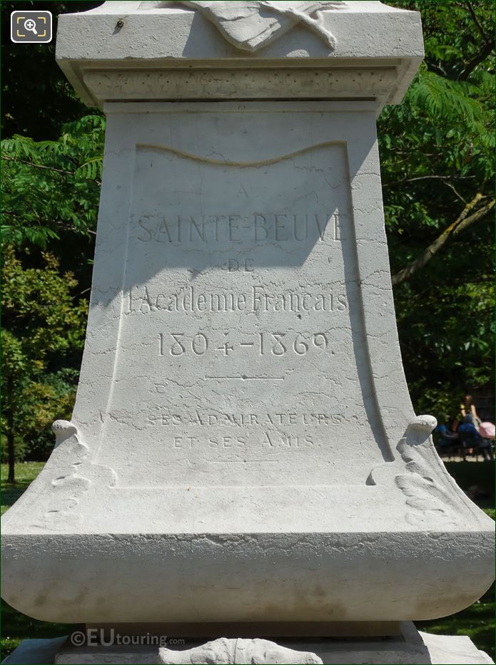
[[[380,2],[276,1],[263,2],[261,11],[253,1],[170,5],[112,0],[59,16],[57,60],[86,103],[298,97],[399,103],[423,57],[420,15]],[[230,20],[219,16],[226,13]]]

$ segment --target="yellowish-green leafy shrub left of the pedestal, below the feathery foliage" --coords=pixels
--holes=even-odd
[[[23,448],[45,439],[54,413],[69,417],[77,373],[64,368],[83,345],[86,301],[75,301],[77,286],[58,260],[42,254],[43,267],[24,268],[14,247],[4,248],[1,306],[2,438],[7,443],[9,480],[14,482],[16,440]]]

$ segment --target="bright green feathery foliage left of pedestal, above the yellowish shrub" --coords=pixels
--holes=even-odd
[[[52,239],[94,232],[104,128],[101,116],[86,115],[55,141],[2,141],[2,241],[44,249]]]

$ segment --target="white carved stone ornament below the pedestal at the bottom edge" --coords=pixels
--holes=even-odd
[[[158,663],[187,665],[193,663],[321,665],[322,660],[310,651],[295,651],[285,646],[279,646],[279,644],[268,639],[228,639],[221,637],[194,649],[183,651],[163,647],[158,651]]]

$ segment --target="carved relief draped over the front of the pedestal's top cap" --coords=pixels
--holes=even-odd
[[[171,4],[182,4],[201,11],[201,14],[211,21],[233,46],[253,53],[298,24],[308,26],[333,50],[336,40],[326,26],[324,14],[325,11],[343,9],[347,3],[337,0],[313,2],[182,0],[142,2],[139,8],[156,9]]]

